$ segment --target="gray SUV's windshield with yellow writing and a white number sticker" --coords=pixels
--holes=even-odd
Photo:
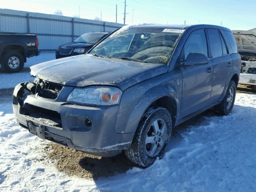
[[[184,30],[124,26],[100,42],[89,54],[168,64],[181,32]]]

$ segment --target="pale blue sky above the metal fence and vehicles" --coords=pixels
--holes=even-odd
[[[256,28],[256,0],[127,0],[126,24],[215,24],[232,30]],[[65,16],[78,16],[87,19],[100,18],[123,23],[124,0],[2,0],[0,8],[53,14],[62,10]]]

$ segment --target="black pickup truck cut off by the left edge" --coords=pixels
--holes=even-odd
[[[0,33],[0,64],[5,72],[19,72],[27,58],[39,54],[36,35]]]

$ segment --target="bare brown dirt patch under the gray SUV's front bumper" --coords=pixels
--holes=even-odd
[[[44,150],[46,158],[55,164],[57,170],[88,180],[124,173],[136,166],[123,153],[114,157],[99,157],[55,143],[47,144]]]

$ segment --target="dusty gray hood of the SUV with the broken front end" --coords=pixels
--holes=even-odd
[[[31,75],[66,86],[118,86],[122,90],[164,74],[168,66],[89,55],[72,56],[30,67]]]

